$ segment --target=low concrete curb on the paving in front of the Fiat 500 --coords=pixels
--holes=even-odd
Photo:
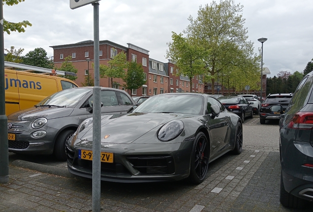
[[[25,160],[14,160],[11,164],[17,167],[28,168],[31,170],[58,175],[58,176],[66,177],[66,178],[76,178],[76,176],[69,173],[67,169],[61,169],[58,167],[38,164],[38,163],[29,162]]]

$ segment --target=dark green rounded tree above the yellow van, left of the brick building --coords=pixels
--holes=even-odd
[[[23,63],[26,65],[53,69],[54,64],[52,60],[47,57],[47,52],[43,48],[35,48],[33,51],[25,54]]]

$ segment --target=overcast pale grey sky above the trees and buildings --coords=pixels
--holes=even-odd
[[[313,58],[313,0],[234,0],[244,6],[243,18],[249,40],[258,53],[263,44],[264,67],[274,77],[280,71],[303,72]],[[134,44],[150,51],[150,58],[166,63],[172,31],[183,32],[197,17],[199,6],[211,0],[100,0],[99,39],[127,47]],[[216,2],[219,3],[219,0]],[[25,0],[3,5],[3,17],[10,22],[27,20],[26,32],[4,33],[4,48],[25,49],[22,53],[49,46],[94,40],[94,7],[70,9],[69,0]],[[5,52],[6,53],[6,52]]]

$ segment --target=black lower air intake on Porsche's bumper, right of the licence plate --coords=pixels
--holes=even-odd
[[[126,159],[141,175],[162,175],[175,172],[172,156],[131,156]]]

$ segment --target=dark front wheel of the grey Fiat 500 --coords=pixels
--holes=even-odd
[[[65,130],[58,136],[54,145],[54,156],[58,160],[66,161],[65,143],[74,134],[74,130]]]

